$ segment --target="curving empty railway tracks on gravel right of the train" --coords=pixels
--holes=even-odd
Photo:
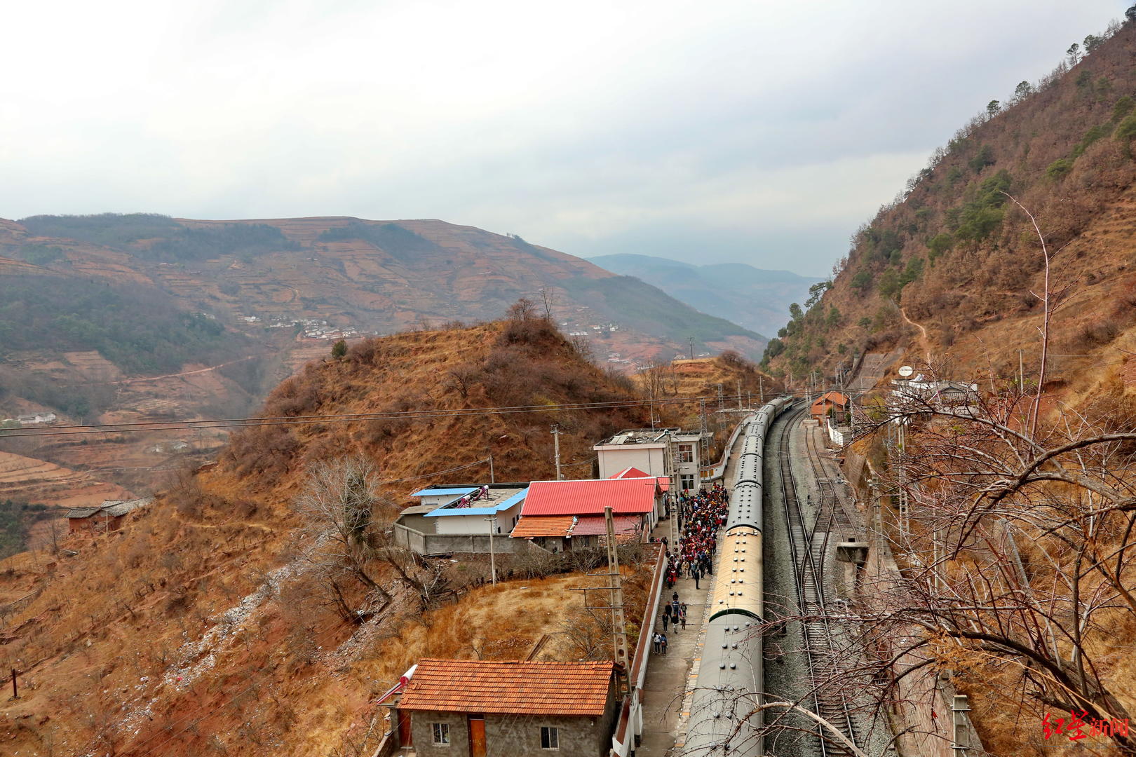
[[[800,410],[787,415],[782,423],[780,436],[780,478],[785,511],[785,523],[788,532],[790,550],[793,560],[793,572],[796,580],[797,606],[802,616],[803,646],[808,659],[811,693],[809,696],[813,712],[843,731],[853,742],[859,743],[855,718],[852,715],[846,692],[834,691],[832,681],[840,675],[840,655],[833,638],[834,626],[828,617],[825,600],[825,557],[828,550],[828,538],[836,527],[851,530],[851,521],[836,496],[836,489],[824,476],[824,468],[818,460],[819,452],[809,439],[809,462],[820,483],[821,502],[818,503],[818,515],[812,528],[805,524],[804,512],[797,495],[796,479],[790,453],[790,438],[793,427],[804,418],[805,411]],[[807,435],[807,438],[811,435]],[[843,518],[843,522],[841,522]],[[821,529],[820,527],[824,525]],[[821,737],[818,729],[817,742],[819,754],[824,757],[852,755],[852,751],[840,743],[834,743]]]

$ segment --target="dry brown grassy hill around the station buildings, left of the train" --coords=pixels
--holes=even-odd
[[[265,415],[633,399],[625,380],[582,360],[542,319],[370,339],[341,360],[308,365],[270,396]],[[575,574],[477,588],[484,566],[451,565],[468,594],[426,612],[382,561],[369,570],[393,600],[360,624],[325,604],[301,556],[290,501],[315,462],[376,461],[384,494],[482,481],[470,463],[492,451],[498,480],[551,477],[549,426],[562,454],[590,473],[591,444],[644,410],[540,411],[247,429],[218,468],[183,474],[149,510],[108,536],[72,537],[73,557],[17,555],[0,564],[0,665],[20,671],[22,696],[0,710],[6,754],[369,754],[382,731],[371,699],[421,655],[523,657],[562,631]],[[382,507],[381,524],[395,512]],[[445,567],[450,566],[450,567]],[[634,566],[633,566],[634,567]],[[411,569],[417,570],[417,569]],[[642,572],[628,605],[642,606]],[[365,603],[358,582],[341,586]],[[461,596],[459,594],[459,596]],[[371,611],[368,611],[371,612]],[[637,622],[637,621],[636,621]],[[553,637],[546,654],[579,651]],[[381,717],[381,714],[379,714]],[[337,752],[335,750],[339,750]]]

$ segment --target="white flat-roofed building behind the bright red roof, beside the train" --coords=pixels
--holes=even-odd
[[[679,490],[692,491],[702,482],[701,431],[682,429],[625,429],[593,446],[600,478],[627,468],[670,479]]]

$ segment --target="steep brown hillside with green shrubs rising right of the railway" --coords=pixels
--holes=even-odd
[[[901,201],[862,227],[833,288],[767,352],[778,375],[830,373],[855,354],[908,346],[910,360],[1017,372],[1037,360],[1044,255],[1013,195],[1037,219],[1064,291],[1056,380],[1075,381],[1136,323],[1136,25],[1059,67],[933,155]],[[1079,360],[1076,355],[1091,358]]]

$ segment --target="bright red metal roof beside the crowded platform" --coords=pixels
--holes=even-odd
[[[659,482],[653,476],[637,479],[533,481],[521,515],[602,515],[650,513],[654,510]]]

